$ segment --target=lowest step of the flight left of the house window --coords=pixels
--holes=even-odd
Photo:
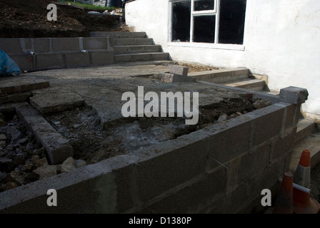
[[[114,55],[116,62],[129,62],[129,61],[167,61],[169,60],[169,53],[130,53]]]

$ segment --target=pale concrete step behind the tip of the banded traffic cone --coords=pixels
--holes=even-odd
[[[290,170],[295,171],[303,150],[310,151],[311,169],[320,162],[320,133],[315,132],[296,142],[292,152]]]

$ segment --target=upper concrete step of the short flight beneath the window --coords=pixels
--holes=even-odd
[[[188,76],[196,77],[198,81],[209,83],[226,83],[249,77],[247,68],[227,68],[214,71],[201,71],[188,73]]]

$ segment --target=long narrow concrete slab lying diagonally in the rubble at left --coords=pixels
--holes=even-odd
[[[34,132],[36,140],[46,149],[50,164],[61,164],[73,155],[73,148],[69,145],[69,141],[57,133],[31,105],[22,103],[16,107],[16,113],[27,128]]]

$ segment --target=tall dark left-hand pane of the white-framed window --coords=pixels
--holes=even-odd
[[[191,1],[172,3],[172,41],[189,42],[191,23]]]

